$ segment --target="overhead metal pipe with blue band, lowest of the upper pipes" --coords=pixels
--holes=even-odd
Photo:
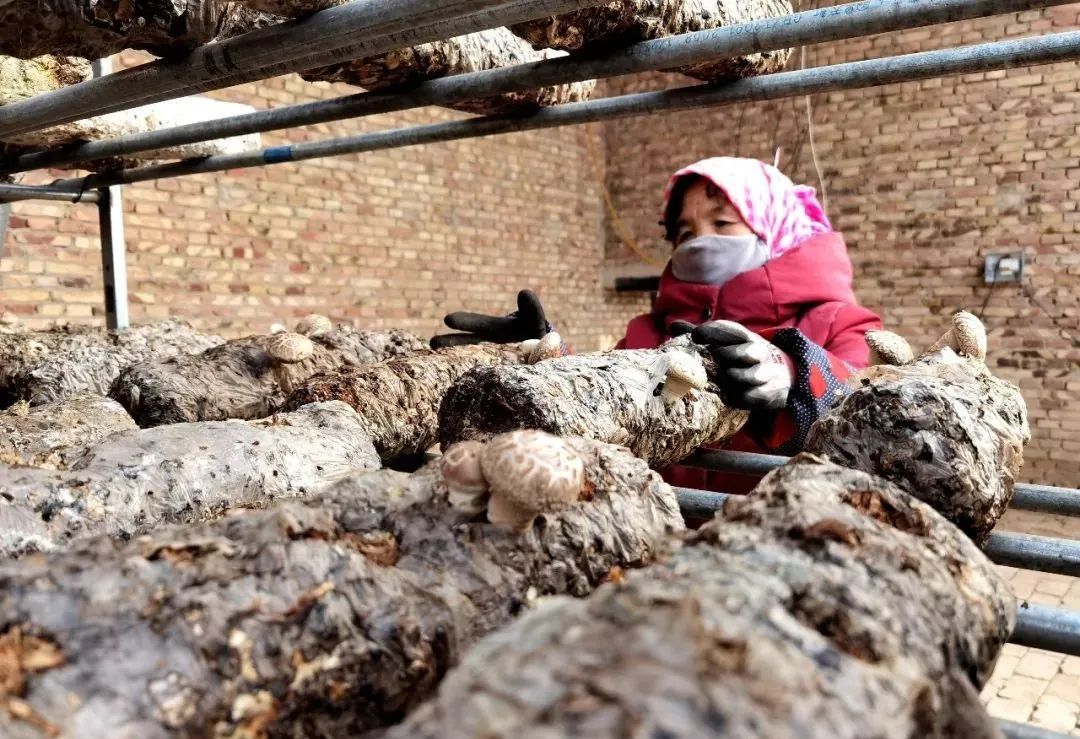
[[[180,177],[476,136],[577,125],[662,111],[718,107],[752,100],[771,100],[837,90],[854,90],[945,75],[968,75],[1077,58],[1080,58],[1080,31],[1068,31],[1038,38],[996,41],[959,49],[781,72],[738,80],[724,85],[701,84],[662,92],[621,95],[545,108],[526,117],[488,116],[361,134],[312,144],[279,146],[237,154],[219,154],[201,160],[188,160],[105,175],[91,175],[87,178],[60,180],[57,185],[72,189],[84,188],[87,182],[93,187],[126,185],[164,177]],[[0,108],[0,111],[2,110]]]

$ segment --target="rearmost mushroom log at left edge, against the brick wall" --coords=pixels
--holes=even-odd
[[[200,352],[222,340],[178,321],[119,331],[62,326],[0,332],[0,408],[19,400],[38,405],[76,395],[107,395],[131,364]]]

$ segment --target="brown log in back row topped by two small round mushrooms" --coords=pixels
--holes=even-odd
[[[381,362],[424,346],[399,331],[320,331],[315,323],[319,319],[308,317],[295,333],[249,336],[200,354],[140,362],[120,376],[110,394],[144,428],[265,418],[316,373]]]

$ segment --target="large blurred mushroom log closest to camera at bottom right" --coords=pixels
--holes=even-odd
[[[545,599],[388,739],[998,737],[1008,582],[890,483],[796,458],[664,562]]]

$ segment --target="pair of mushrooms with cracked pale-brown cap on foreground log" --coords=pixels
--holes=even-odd
[[[488,521],[515,533],[531,528],[538,515],[573,505],[585,487],[581,457],[544,431],[455,444],[441,467],[451,506],[470,515],[486,509]]]

